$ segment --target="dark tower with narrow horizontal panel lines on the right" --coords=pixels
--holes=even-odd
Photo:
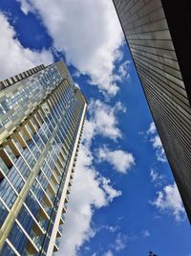
[[[114,4],[191,221],[191,2]]]

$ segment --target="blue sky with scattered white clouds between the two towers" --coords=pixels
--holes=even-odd
[[[111,0],[2,0],[0,79],[60,58],[89,111],[57,256],[190,256],[190,225]]]

